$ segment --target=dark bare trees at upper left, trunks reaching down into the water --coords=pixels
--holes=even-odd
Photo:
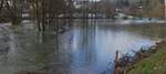
[[[37,20],[40,31],[50,24],[59,14],[69,13],[71,0],[0,0],[0,22],[20,24],[22,14],[29,13]]]

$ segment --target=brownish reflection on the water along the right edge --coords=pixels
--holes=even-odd
[[[143,36],[147,36],[154,40],[165,39],[166,36],[165,24],[129,25],[125,27],[125,30],[139,33]]]

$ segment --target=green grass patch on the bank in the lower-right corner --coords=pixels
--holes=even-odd
[[[166,45],[134,66],[128,74],[166,74]]]

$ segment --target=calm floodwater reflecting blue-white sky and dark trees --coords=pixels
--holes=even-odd
[[[73,22],[74,27],[63,33],[37,32],[33,23],[11,29],[1,27],[0,74],[102,74],[112,70],[117,50],[132,55],[133,50],[165,38],[160,34],[166,32],[153,25],[148,30],[142,25],[108,27],[100,22]]]

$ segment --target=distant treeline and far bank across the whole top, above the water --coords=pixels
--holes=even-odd
[[[19,24],[23,19],[33,19],[39,30],[44,30],[45,24],[59,18],[113,18],[117,12],[133,17],[164,18],[165,6],[164,0],[0,0],[0,22]]]

